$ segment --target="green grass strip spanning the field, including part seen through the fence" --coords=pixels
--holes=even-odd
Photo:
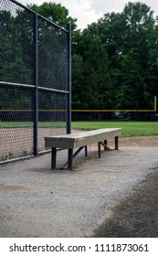
[[[64,128],[62,122],[39,122],[39,128]],[[30,122],[5,122],[0,123],[0,128],[32,128]],[[121,128],[121,137],[155,136],[158,135],[158,122],[72,122],[71,127],[81,130],[95,130],[101,128]]]

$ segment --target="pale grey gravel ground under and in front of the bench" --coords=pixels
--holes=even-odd
[[[140,203],[142,208],[146,204],[139,186],[156,173],[157,140],[153,138],[152,143],[152,138],[137,138],[129,143],[128,139],[121,139],[119,151],[102,152],[101,158],[97,148],[90,146],[88,157],[82,153],[75,160],[75,171],[51,171],[50,154],[0,165],[0,237],[131,236],[128,207],[133,203],[138,209]],[[66,161],[66,151],[58,152],[58,167]],[[132,200],[134,193],[140,197],[139,204]],[[119,207],[126,217],[124,223],[121,214],[117,215]],[[133,214],[134,218],[140,219],[139,214]],[[151,215],[148,218],[157,221]],[[122,229],[125,223],[129,232]]]

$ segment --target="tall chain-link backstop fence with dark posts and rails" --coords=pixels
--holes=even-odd
[[[70,133],[70,24],[0,0],[0,164],[44,152]]]

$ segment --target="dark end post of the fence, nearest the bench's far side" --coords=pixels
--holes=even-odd
[[[71,25],[67,23],[67,46],[68,46],[68,79],[67,79],[67,90],[68,90],[68,99],[67,99],[67,133],[71,133]]]

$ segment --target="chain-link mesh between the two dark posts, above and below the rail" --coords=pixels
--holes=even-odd
[[[67,90],[67,33],[38,16],[38,85]],[[65,133],[67,97],[53,91],[38,93],[38,150],[46,135]],[[45,129],[40,127],[45,124]]]

